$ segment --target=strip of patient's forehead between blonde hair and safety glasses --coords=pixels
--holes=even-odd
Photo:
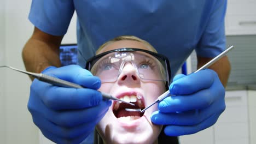
[[[110,43],[103,47],[103,49],[98,52],[97,54],[110,51],[110,50],[115,50],[115,49],[120,49],[123,47],[131,47],[131,48],[137,48],[137,49],[143,49],[143,50],[148,50],[148,51],[153,51],[152,48],[142,42],[135,41],[135,40],[119,40],[119,41],[114,41],[113,43]]]

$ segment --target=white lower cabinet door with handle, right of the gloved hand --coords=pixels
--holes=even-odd
[[[228,91],[225,95],[226,110],[214,124],[216,144],[249,143],[247,91]]]

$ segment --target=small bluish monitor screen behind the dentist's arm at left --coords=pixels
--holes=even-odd
[[[62,44],[60,46],[61,65],[77,64],[77,44]]]

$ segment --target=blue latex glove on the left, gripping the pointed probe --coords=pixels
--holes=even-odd
[[[28,110],[43,135],[56,143],[80,143],[108,111],[111,101],[102,101],[96,89],[101,81],[78,65],[49,67],[42,73],[87,88],[65,88],[34,79]]]

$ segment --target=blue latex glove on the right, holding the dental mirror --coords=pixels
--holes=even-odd
[[[225,110],[225,89],[217,73],[211,69],[177,75],[170,85],[170,93],[152,114],[155,124],[166,125],[168,136],[194,134],[216,123]]]

